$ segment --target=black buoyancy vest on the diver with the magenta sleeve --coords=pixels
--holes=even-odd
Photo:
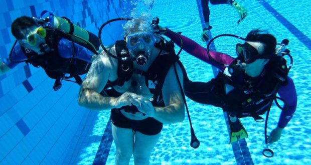
[[[219,73],[215,83],[218,90],[222,88],[218,95],[223,99],[223,110],[238,118],[252,116],[254,119],[261,119],[259,115],[271,107],[279,86],[287,83],[287,74],[286,60],[282,56],[271,58],[257,78],[245,73],[237,76]],[[234,89],[225,93],[225,84],[234,86]]]

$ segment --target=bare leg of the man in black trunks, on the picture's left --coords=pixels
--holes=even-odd
[[[112,136],[116,146],[115,164],[128,164],[133,153],[134,131],[112,124]]]

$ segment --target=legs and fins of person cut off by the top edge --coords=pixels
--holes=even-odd
[[[238,24],[247,16],[247,11],[245,8],[242,7],[236,0],[201,0],[203,17],[205,21],[205,27],[201,33],[201,38],[203,41],[207,41],[209,39],[208,31],[212,29],[212,26],[210,25],[210,8],[208,6],[209,1],[211,4],[230,4],[232,7],[234,7],[234,9],[240,15]]]

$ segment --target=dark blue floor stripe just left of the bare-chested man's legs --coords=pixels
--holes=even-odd
[[[111,133],[111,120],[109,119],[104,134],[101,138],[98,150],[96,152],[93,164],[106,164],[112,140],[113,138]]]

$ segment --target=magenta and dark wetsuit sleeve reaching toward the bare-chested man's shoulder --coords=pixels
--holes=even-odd
[[[181,46],[181,40],[180,38],[174,34],[174,32],[172,31],[167,31],[164,33],[164,35],[166,35],[167,37],[169,37],[170,39],[172,39],[177,45]],[[215,62],[213,59],[210,59],[210,57],[208,56],[207,52],[206,52],[206,48],[202,47],[201,45],[199,45],[197,42],[195,42],[194,40],[181,35],[181,39],[183,41],[183,49],[185,51],[187,51],[189,54],[209,63],[212,64],[213,66],[224,70],[225,67],[223,65],[220,65],[218,63],[222,63],[222,64],[230,64],[234,58],[231,57],[228,54],[225,53],[221,53],[221,52],[216,52],[216,51],[209,51],[210,55],[212,56],[212,58],[214,60],[216,60],[217,62]]]

